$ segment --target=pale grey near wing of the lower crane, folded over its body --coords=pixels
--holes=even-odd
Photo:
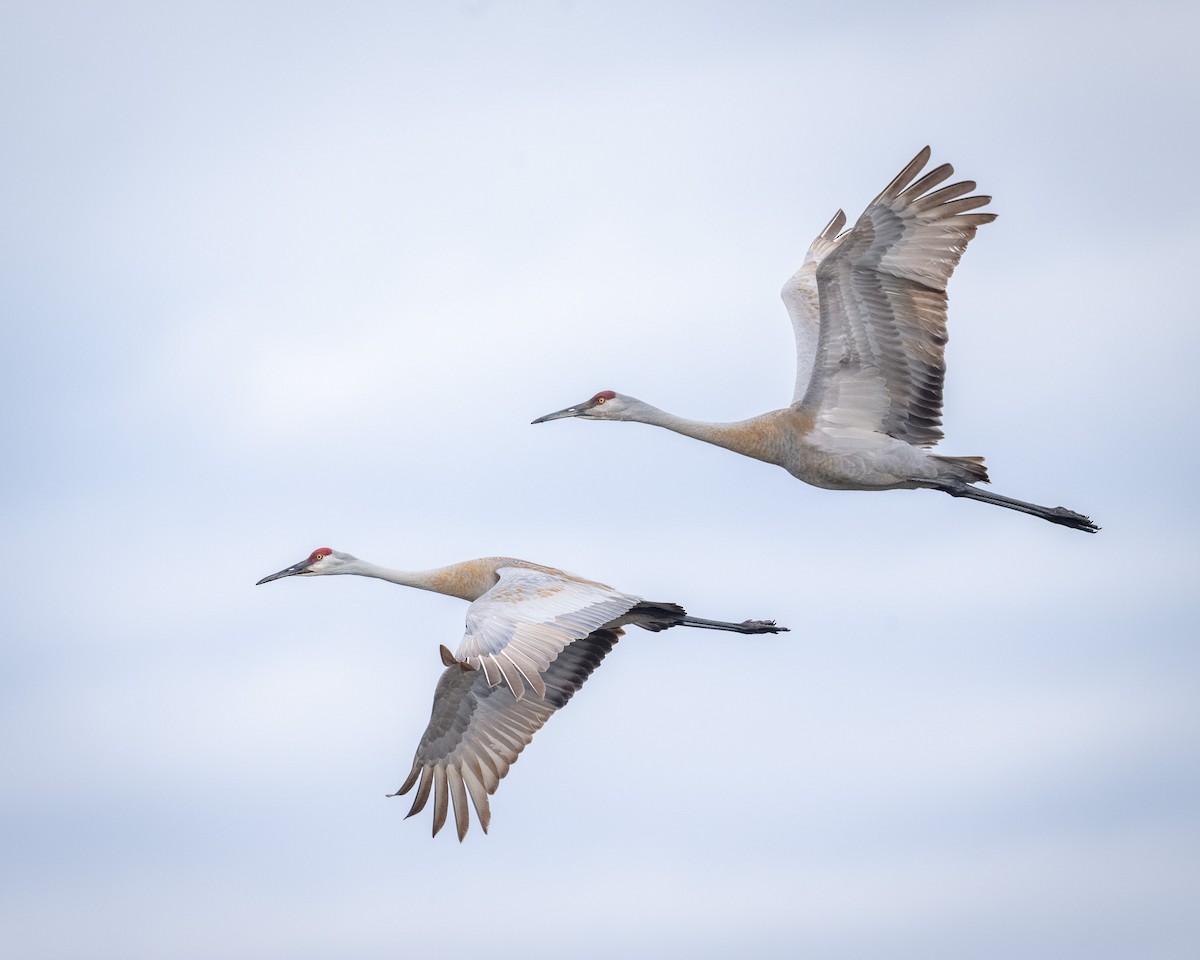
[[[499,581],[467,610],[456,656],[481,667],[521,700],[526,686],[545,697],[542,674],[568,644],[628,613],[638,596],[545,570],[502,566]]]

